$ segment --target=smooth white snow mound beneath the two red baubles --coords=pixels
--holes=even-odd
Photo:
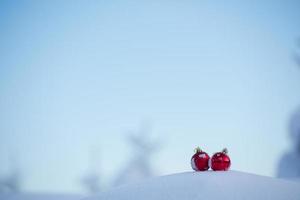
[[[300,200],[300,183],[237,171],[186,172],[121,186],[85,200]]]

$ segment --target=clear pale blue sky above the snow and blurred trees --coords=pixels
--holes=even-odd
[[[29,191],[80,191],[91,149],[104,181],[144,121],[158,174],[200,145],[274,176],[300,105],[297,1],[2,1],[0,172]],[[298,51],[299,52],[299,51]]]

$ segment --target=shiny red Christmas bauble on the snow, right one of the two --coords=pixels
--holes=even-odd
[[[227,171],[231,165],[228,150],[225,148],[222,152],[215,153],[210,160],[210,167],[214,171]]]

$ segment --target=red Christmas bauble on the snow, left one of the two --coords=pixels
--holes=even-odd
[[[191,158],[191,165],[195,171],[206,171],[209,169],[209,155],[202,151],[199,147],[195,149],[195,154]]]

